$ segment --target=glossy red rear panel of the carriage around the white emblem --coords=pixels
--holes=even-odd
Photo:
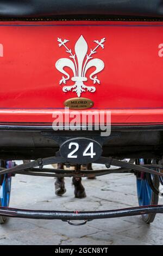
[[[104,69],[97,74],[96,92],[83,92],[93,108],[111,111],[112,123],[163,123],[163,22],[0,22],[0,122],[52,123],[52,112],[62,111],[64,101],[76,93],[62,91],[62,74],[55,68],[68,58],[58,37],[68,48],[83,35],[88,52],[94,40],[105,38],[94,58]],[[67,85],[72,85],[72,71]],[[90,68],[87,77],[95,68]],[[88,79],[85,82],[93,86]],[[93,109],[92,109],[93,111]]]

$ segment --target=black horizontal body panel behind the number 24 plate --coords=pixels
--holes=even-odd
[[[99,138],[100,131],[53,131],[52,126],[1,125],[0,154],[4,160],[37,159],[55,155],[57,137]],[[110,139],[110,137],[112,137]],[[163,125],[113,125],[105,138],[102,156],[124,158],[157,158],[163,155]]]

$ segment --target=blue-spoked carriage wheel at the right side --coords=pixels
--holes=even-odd
[[[156,163],[155,160],[147,160],[147,159],[136,159],[135,164],[151,164]],[[143,205],[157,205],[159,201],[158,194],[154,193],[148,182],[148,175],[144,172],[139,172],[136,174],[136,185],[137,185],[137,198],[139,202],[139,206]],[[156,190],[159,189],[159,178],[156,175],[151,175],[153,185]],[[142,215],[143,221],[146,223],[151,223],[154,221],[156,214],[144,214]]]

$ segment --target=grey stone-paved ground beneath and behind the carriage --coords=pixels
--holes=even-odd
[[[94,166],[95,168],[95,166]],[[99,166],[97,167],[99,168]],[[55,196],[54,179],[16,175],[10,206],[39,210],[106,210],[137,205],[133,174],[109,174],[83,179],[87,197],[74,198],[71,178],[66,193]],[[159,203],[163,203],[159,199]],[[0,245],[161,245],[163,216],[148,225],[141,216],[94,220],[74,227],[58,220],[10,218],[0,227]]]

